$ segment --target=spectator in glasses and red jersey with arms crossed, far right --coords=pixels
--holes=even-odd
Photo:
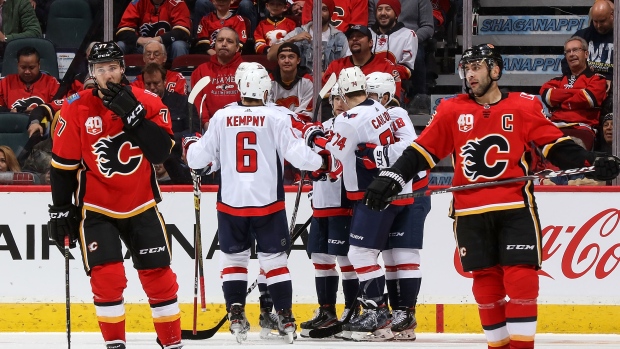
[[[605,99],[605,78],[588,67],[588,43],[583,38],[566,40],[564,55],[570,73],[546,82],[540,95],[551,111],[551,121],[565,135],[581,139],[585,148],[592,150]]]

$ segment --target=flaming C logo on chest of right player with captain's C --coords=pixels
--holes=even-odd
[[[488,135],[482,139],[474,139],[461,147],[460,156],[463,158],[463,173],[471,181],[478,178],[494,179],[504,173],[508,167],[508,160],[499,160],[489,163],[489,153],[495,148],[497,154],[508,153],[510,145],[502,135]]]

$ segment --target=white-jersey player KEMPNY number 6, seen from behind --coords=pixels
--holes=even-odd
[[[231,332],[241,342],[250,327],[244,307],[254,238],[278,314],[278,329],[292,343],[296,324],[286,256],[290,236],[283,161],[307,171],[329,172],[337,167],[337,160],[327,151],[315,153],[295,136],[285,116],[265,106],[270,88],[265,70],[245,73],[239,84],[241,103],[218,110],[204,137],[188,137],[183,145],[190,168],[202,169],[213,161],[221,166],[216,208],[222,289]]]

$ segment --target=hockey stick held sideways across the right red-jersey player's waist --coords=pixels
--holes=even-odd
[[[573,168],[569,170],[559,170],[559,171],[543,170],[543,171],[536,172],[529,176],[515,177],[515,178],[503,179],[499,181],[492,181],[492,182],[457,185],[456,187],[450,187],[446,189],[426,190],[426,191],[417,192],[417,193],[395,195],[395,196],[389,197],[387,201],[391,202],[394,200],[410,199],[410,198],[417,198],[417,197],[422,197],[422,196],[431,196],[431,195],[451,193],[451,192],[461,191],[461,190],[493,187],[493,186],[503,185],[503,184],[531,181],[534,179],[549,179],[549,178],[555,178],[555,177],[561,177],[561,176],[588,173],[588,172],[593,172],[593,171],[594,171],[594,166],[587,166],[587,167],[582,167],[582,168]]]

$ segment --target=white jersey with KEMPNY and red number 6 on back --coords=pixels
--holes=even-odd
[[[276,108],[230,104],[218,110],[204,136],[187,151],[190,168],[219,162],[222,183],[217,210],[264,216],[284,209],[284,159],[306,171],[321,167],[320,155],[291,129]]]

